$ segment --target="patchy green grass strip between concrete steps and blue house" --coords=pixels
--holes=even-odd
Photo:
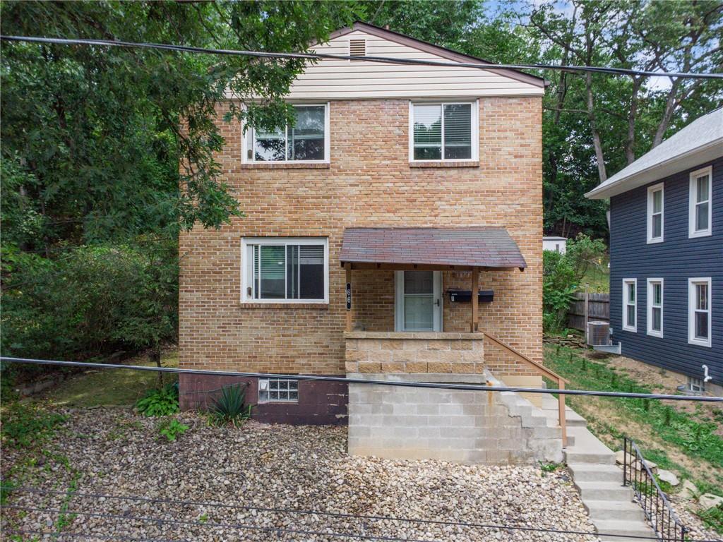
[[[585,359],[571,348],[545,348],[545,365],[578,390],[650,393],[651,387],[603,360]],[[723,492],[723,438],[714,421],[672,408],[660,400],[620,397],[568,397],[589,421],[589,429],[619,449],[623,436],[634,439],[646,459],[693,478],[704,491]]]

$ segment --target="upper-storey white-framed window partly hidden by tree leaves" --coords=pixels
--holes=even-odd
[[[294,105],[296,124],[270,132],[249,127],[241,150],[243,161],[309,162],[329,161],[329,104]]]

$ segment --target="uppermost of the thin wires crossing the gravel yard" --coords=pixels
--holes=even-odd
[[[27,491],[28,493],[42,494],[42,495],[66,495],[65,491],[52,490],[52,489],[40,489],[31,488],[27,486],[1,486],[2,489],[6,489],[12,493],[12,491]],[[380,520],[380,521],[395,521],[395,522],[406,522],[406,523],[422,523],[429,525],[448,525],[450,527],[466,527],[466,528],[483,528],[483,529],[500,529],[500,530],[523,530],[533,531],[540,533],[553,533],[553,534],[574,534],[574,535],[605,535],[617,538],[631,538],[628,535],[616,535],[609,533],[591,533],[589,531],[581,530],[564,530],[564,529],[553,529],[553,528],[535,528],[527,527],[525,525],[500,525],[492,523],[478,523],[478,522],[463,522],[463,521],[448,521],[448,520],[419,520],[413,517],[395,517],[395,516],[384,516],[384,515],[366,515],[366,514],[348,514],[344,512],[320,512],[318,510],[303,510],[293,508],[273,508],[273,507],[252,507],[247,504],[221,504],[215,502],[198,502],[198,501],[184,501],[174,499],[155,499],[152,497],[142,496],[129,496],[129,495],[108,495],[108,494],[97,494],[97,493],[79,493],[73,492],[73,496],[84,497],[87,499],[116,499],[123,501],[138,501],[138,502],[150,502],[156,504],[176,504],[179,506],[197,506],[207,508],[231,508],[231,509],[245,509],[245,510],[257,510],[260,512],[282,512],[289,514],[299,515],[317,515],[317,516],[329,516],[329,517],[341,517],[344,519],[355,519],[355,520]],[[642,540],[657,540],[657,538],[651,538],[649,536],[633,536],[632,538],[641,538]],[[714,542],[705,540],[690,540],[690,542]]]

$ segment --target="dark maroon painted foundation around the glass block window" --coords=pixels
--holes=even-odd
[[[180,374],[181,410],[204,410],[212,403],[214,397],[218,397],[221,388],[239,383],[247,384],[246,402],[254,405],[252,418],[256,421],[293,425],[346,425],[347,423],[348,385],[343,382],[300,380],[298,403],[259,403],[257,378]]]

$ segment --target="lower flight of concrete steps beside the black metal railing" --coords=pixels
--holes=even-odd
[[[557,400],[551,395],[543,399],[546,416],[557,420]],[[623,486],[623,470],[615,465],[615,454],[587,429],[585,418],[569,407],[568,447],[565,463],[573,475],[590,519],[599,533],[611,535],[655,536],[646,523],[643,509],[633,502],[633,490]],[[640,541],[639,538],[601,536],[604,542]]]

